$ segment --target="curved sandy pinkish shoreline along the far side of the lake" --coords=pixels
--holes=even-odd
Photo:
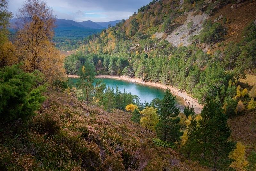
[[[67,77],[79,78],[78,75],[67,75]],[[123,76],[97,75],[97,76],[95,76],[95,78],[111,78],[111,79],[117,79],[117,80],[124,80],[124,81],[128,81],[128,82],[135,82],[135,83],[138,83],[138,84],[144,84],[144,85],[148,85],[148,86],[154,86],[154,87],[158,87],[158,88],[161,88],[161,89],[169,88],[170,91],[174,95],[183,98],[185,106],[189,105],[191,107],[192,105],[194,105],[195,113],[200,113],[203,109],[203,106],[198,103],[197,99],[189,96],[187,94],[187,92],[181,91],[181,90],[179,90],[177,88],[174,88],[172,86],[169,86],[169,85],[164,85],[164,84],[161,84],[161,83],[158,83],[158,82],[148,82],[148,81],[147,82],[142,82],[141,78],[128,78],[124,75]],[[132,80],[134,80],[134,81],[132,81]]]

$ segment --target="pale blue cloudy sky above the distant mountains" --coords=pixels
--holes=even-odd
[[[128,19],[152,0],[44,0],[59,19],[105,22]],[[16,17],[23,0],[9,0],[8,8]]]

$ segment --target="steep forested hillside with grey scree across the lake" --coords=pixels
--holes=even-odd
[[[212,97],[229,118],[229,139],[248,156],[256,150],[255,20],[255,1],[154,0],[79,50],[98,74],[170,85],[202,105]],[[67,74],[76,74],[70,68],[79,59],[66,58]]]

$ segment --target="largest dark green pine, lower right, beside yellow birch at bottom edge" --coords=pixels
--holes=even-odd
[[[230,164],[228,154],[235,147],[234,142],[228,141],[231,134],[227,125],[228,116],[210,97],[205,101],[201,116],[198,133],[203,158],[213,170],[227,168]]]

